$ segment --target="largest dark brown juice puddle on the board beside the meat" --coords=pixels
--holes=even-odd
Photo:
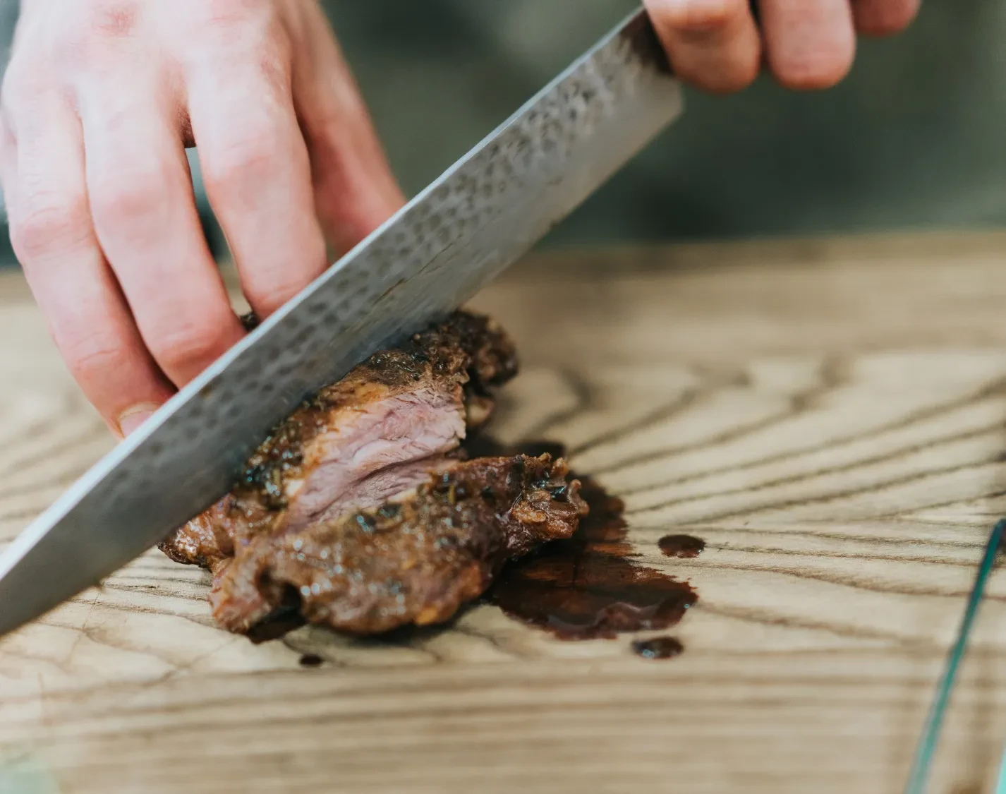
[[[522,445],[519,451],[564,453],[556,444]],[[478,454],[492,453],[480,449]],[[504,567],[485,600],[517,620],[567,640],[611,638],[675,625],[698,600],[695,591],[685,582],[633,563],[622,500],[590,477],[574,476],[591,507],[579,528],[569,539],[546,543]]]

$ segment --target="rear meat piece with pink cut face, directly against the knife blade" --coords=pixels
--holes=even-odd
[[[160,547],[215,570],[260,534],[379,505],[446,465],[515,373],[506,334],[456,312],[322,388],[259,447],[226,496]]]

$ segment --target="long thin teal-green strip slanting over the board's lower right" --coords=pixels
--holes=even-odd
[[[933,767],[933,759],[936,755],[937,742],[940,738],[940,730],[943,728],[944,716],[947,712],[947,704],[950,702],[950,695],[957,679],[957,670],[967,650],[968,638],[971,636],[971,629],[975,623],[975,616],[978,614],[978,607],[982,603],[982,597],[985,595],[986,582],[992,573],[996,557],[1002,545],[1004,530],[1006,530],[1006,518],[1000,518],[996,522],[996,525],[992,527],[992,532],[989,534],[989,541],[985,546],[985,554],[982,557],[978,573],[975,575],[975,584],[972,586],[971,594],[968,596],[968,604],[964,609],[964,616],[961,619],[957,639],[954,641],[954,645],[951,646],[943,675],[937,684],[936,695],[926,717],[918,745],[915,747],[915,757],[911,764],[911,771],[908,774],[908,782],[905,785],[904,794],[925,794],[926,785],[929,782],[930,770]]]

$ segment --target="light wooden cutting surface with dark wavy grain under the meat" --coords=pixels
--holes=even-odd
[[[685,653],[491,607],[254,646],[152,551],[0,642],[0,791],[900,791],[1006,513],[1006,235],[553,255],[476,304],[525,362],[500,435],[625,496],[643,560],[698,590]],[[0,439],[5,539],[110,446],[13,276]],[[669,531],[708,548],[668,561]],[[1004,742],[997,572],[931,791],[991,791]]]

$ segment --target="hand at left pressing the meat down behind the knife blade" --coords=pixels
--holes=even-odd
[[[185,147],[266,317],[402,203],[315,0],[23,0],[4,77],[11,239],[126,435],[243,334]]]

